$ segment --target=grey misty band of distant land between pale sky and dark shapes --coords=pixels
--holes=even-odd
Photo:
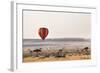
[[[83,38],[56,38],[46,39],[44,41],[40,39],[23,39],[23,49],[37,49],[37,48],[49,48],[49,49],[61,49],[61,48],[82,49],[84,47],[91,47],[90,39]]]

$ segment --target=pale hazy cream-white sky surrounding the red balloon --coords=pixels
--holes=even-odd
[[[24,11],[23,38],[40,39],[38,29],[49,29],[47,38],[90,38],[91,14]]]

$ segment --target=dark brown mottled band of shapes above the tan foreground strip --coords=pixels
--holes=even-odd
[[[72,55],[90,55],[90,48],[84,47],[81,50],[75,50],[75,51],[64,51],[64,49],[58,49],[57,51],[53,52],[44,52],[42,48],[30,50],[28,55],[31,57],[66,57],[72,56]]]

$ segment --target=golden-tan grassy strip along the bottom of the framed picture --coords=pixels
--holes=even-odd
[[[88,60],[90,55],[66,55],[65,57],[24,57],[23,62],[46,62],[46,61],[69,61],[69,60]]]

